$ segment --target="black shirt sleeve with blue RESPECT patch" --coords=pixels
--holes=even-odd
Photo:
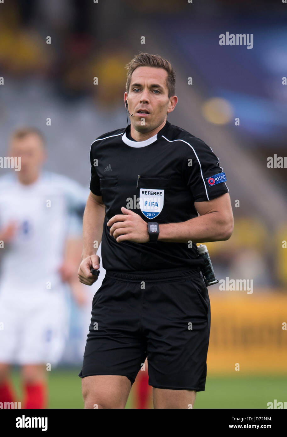
[[[208,201],[228,193],[225,173],[211,147],[195,137],[188,145],[190,150],[185,154],[182,173],[194,201]]]

